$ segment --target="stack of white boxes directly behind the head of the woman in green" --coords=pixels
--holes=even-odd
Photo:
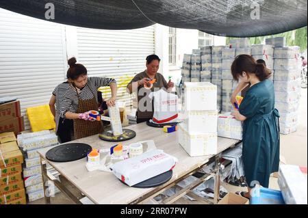
[[[266,62],[266,68],[272,72],[270,79],[274,79],[274,47],[271,44],[254,44],[252,45],[251,55],[257,59],[263,59]]]

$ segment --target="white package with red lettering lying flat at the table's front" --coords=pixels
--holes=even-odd
[[[175,167],[177,159],[162,150],[151,150],[139,156],[114,163],[110,168],[114,175],[127,185],[153,178]]]

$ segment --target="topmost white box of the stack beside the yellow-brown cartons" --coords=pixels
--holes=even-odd
[[[38,148],[44,148],[48,146],[57,145],[57,135],[55,133],[49,133],[47,135],[40,135],[36,137],[31,137],[27,139],[22,139],[23,141],[23,150],[36,150]]]

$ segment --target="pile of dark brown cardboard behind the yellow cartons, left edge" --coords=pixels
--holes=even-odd
[[[14,132],[15,135],[25,130],[21,103],[14,100],[0,105],[0,133]]]

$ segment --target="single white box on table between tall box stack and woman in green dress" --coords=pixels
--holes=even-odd
[[[218,115],[217,135],[219,137],[242,140],[242,122],[236,120],[231,113]]]

